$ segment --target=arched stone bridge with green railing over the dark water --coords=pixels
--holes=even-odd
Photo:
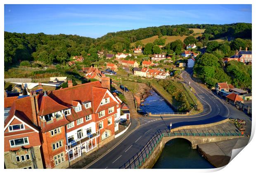
[[[120,168],[152,168],[161,155],[164,145],[172,139],[184,138],[190,141],[193,149],[198,144],[213,143],[233,138],[244,137],[237,130],[194,130],[194,129],[163,129],[157,131],[148,143],[133,158]]]

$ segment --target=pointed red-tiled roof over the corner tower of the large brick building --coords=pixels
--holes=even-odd
[[[45,93],[45,95],[39,98],[38,100],[38,109],[39,109],[38,115],[44,116],[50,113],[67,109],[67,107],[57,103],[52,98],[47,96],[47,94]]]

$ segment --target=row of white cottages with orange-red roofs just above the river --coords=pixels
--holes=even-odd
[[[141,77],[154,77],[156,79],[166,79],[166,77],[170,76],[168,71],[150,68],[134,68],[133,74]]]

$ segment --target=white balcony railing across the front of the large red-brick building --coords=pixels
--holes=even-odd
[[[82,138],[76,139],[65,145],[66,151],[71,150],[72,148],[88,142],[90,139],[100,136],[100,130],[97,130],[95,133],[88,133]]]

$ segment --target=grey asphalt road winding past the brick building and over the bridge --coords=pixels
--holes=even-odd
[[[204,106],[204,111],[199,115],[190,115],[189,117],[172,117],[172,118],[140,118],[140,126],[138,129],[130,133],[119,145],[117,145],[111,152],[106,154],[104,157],[96,161],[88,168],[119,168],[128,159],[132,158],[139,150],[147,143],[152,135],[158,129],[165,129],[169,127],[172,122],[172,128],[184,125],[196,125],[196,124],[207,124],[212,122],[218,122],[220,120],[230,117],[230,110],[234,114],[245,115],[243,112],[230,107],[224,101],[220,100],[211,91],[200,86],[194,82],[190,74],[192,69],[183,71],[181,76],[185,82],[192,86],[196,93],[197,98],[201,101]]]

